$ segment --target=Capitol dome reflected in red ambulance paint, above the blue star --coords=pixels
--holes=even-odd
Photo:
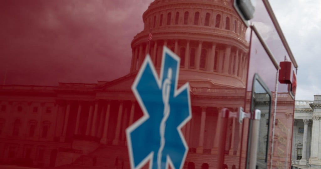
[[[131,72],[138,70],[148,53],[160,67],[165,45],[181,58],[181,71],[212,72],[209,77],[224,75],[238,81],[231,82],[239,84],[235,87],[244,85],[249,44],[246,26],[230,1],[155,0],[144,12],[143,22],[144,30],[131,43]]]

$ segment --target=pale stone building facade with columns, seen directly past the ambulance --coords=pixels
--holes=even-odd
[[[292,136],[292,166],[297,168],[321,168],[320,118],[321,95],[314,100],[295,102]]]

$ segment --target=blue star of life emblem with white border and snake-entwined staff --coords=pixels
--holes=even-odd
[[[143,117],[126,129],[132,169],[148,161],[150,169],[183,168],[188,146],[181,128],[192,115],[189,84],[177,89],[179,62],[164,46],[160,78],[147,55],[134,80],[132,90]]]

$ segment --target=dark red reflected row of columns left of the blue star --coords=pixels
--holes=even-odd
[[[126,100],[129,101],[129,100]],[[135,101],[130,101],[130,110],[129,110],[129,119],[127,121],[127,114],[125,115],[124,110],[124,102],[125,100],[118,100],[119,107],[117,111],[117,122],[116,122],[116,129],[115,129],[115,136],[112,140],[113,145],[118,145],[120,138],[125,138],[125,128],[133,123],[134,120],[134,113],[135,113]],[[77,115],[76,115],[76,122],[74,128],[74,135],[79,134],[80,128],[80,118],[83,108],[83,102],[78,102],[77,108]],[[70,117],[70,107],[71,103],[67,102],[65,106],[65,117],[63,123],[63,130],[61,141],[65,140],[67,127],[68,127],[68,120]],[[98,111],[101,111],[100,113]],[[86,131],[85,136],[92,136],[92,137],[99,137],[101,144],[108,144],[107,134],[108,134],[108,127],[110,127],[110,118],[111,116],[111,100],[107,100],[106,104],[99,104],[98,101],[91,103],[88,112],[88,119],[86,123]],[[125,117],[126,116],[126,117]],[[128,122],[128,124],[126,124]],[[101,135],[100,135],[101,133]],[[123,136],[122,136],[123,135]]]

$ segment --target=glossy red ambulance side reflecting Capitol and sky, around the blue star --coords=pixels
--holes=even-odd
[[[148,54],[159,76],[166,46],[189,83],[184,168],[244,168],[249,121],[224,112],[250,111],[254,73],[275,92],[276,70],[231,1],[188,2],[5,2],[0,163],[130,168],[126,129],[143,116],[131,87]]]

